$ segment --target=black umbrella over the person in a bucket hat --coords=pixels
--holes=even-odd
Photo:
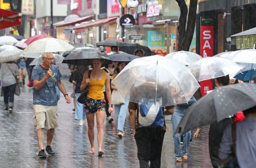
[[[145,54],[143,56],[151,56],[152,51],[147,47],[137,43],[124,43],[119,46],[119,51],[123,51],[125,53],[134,55],[135,51],[138,49],[142,49]]]

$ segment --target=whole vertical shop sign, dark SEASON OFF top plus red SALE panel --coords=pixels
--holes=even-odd
[[[213,56],[213,29],[213,19],[201,17],[200,55],[203,58]]]

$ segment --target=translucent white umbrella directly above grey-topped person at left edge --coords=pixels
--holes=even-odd
[[[0,62],[9,62],[9,61],[15,61],[17,59],[20,59],[20,54],[22,53],[22,50],[5,50],[0,53]]]

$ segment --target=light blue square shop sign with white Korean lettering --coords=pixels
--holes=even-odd
[[[157,31],[148,31],[148,47],[164,47],[165,33]]]

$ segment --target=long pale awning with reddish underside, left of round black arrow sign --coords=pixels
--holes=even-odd
[[[119,16],[115,16],[115,17],[111,17],[111,18],[106,18],[106,19],[100,19],[100,20],[97,20],[95,22],[90,22],[90,23],[82,24],[80,26],[69,27],[69,29],[75,29],[75,30],[77,30],[76,33],[78,33],[78,32],[80,33],[80,32],[84,32],[85,29],[88,29],[90,27],[102,26],[104,24],[107,24],[107,23],[110,23],[112,21],[115,21],[116,18],[118,18],[118,17]]]

